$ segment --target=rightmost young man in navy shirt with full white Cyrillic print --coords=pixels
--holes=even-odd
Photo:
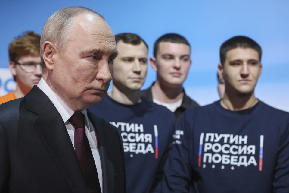
[[[236,36],[222,44],[224,97],[188,109],[176,128],[162,192],[289,192],[289,113],[254,95],[261,47]]]

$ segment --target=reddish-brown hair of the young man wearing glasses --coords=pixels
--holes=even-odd
[[[40,35],[33,31],[27,31],[9,44],[9,60],[17,62],[21,56],[40,56],[39,50]]]

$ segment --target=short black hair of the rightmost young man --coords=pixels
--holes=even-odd
[[[259,54],[259,62],[261,62],[262,49],[259,44],[246,36],[235,36],[225,41],[220,47],[220,60],[222,65],[225,63],[227,52],[238,47],[256,50]]]

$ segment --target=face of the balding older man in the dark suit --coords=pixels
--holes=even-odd
[[[55,56],[51,87],[80,111],[99,103],[107,93],[117,49],[112,30],[94,14],[74,17],[71,29],[64,50]]]

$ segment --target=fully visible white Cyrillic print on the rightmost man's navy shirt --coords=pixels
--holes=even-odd
[[[235,166],[257,166],[255,155],[256,148],[259,148],[259,171],[262,171],[263,140],[264,136],[260,135],[260,146],[256,147],[256,145],[247,144],[247,135],[201,133],[198,166],[203,168],[207,165],[212,168],[220,166],[221,169],[229,166],[232,170]]]

